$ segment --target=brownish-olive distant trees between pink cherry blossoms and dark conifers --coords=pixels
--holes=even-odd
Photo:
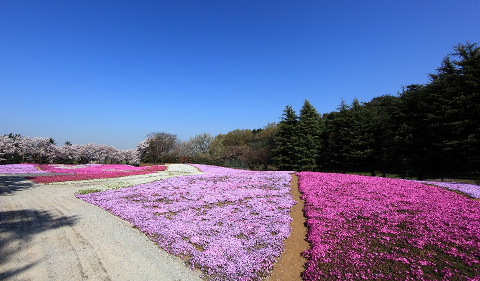
[[[184,162],[267,169],[272,164],[276,123],[259,129],[235,129],[213,137],[197,134],[180,141],[176,134],[151,132],[137,145],[142,162]]]

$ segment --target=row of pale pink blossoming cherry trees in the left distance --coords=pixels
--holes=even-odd
[[[118,149],[104,144],[71,144],[57,146],[53,138],[29,137],[20,134],[0,135],[0,163],[138,163],[136,150]]]

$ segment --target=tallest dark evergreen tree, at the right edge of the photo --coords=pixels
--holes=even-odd
[[[436,169],[444,173],[455,166],[476,171],[480,163],[480,47],[468,41],[458,44],[436,70],[429,74],[425,87],[434,109],[428,121],[441,154]]]

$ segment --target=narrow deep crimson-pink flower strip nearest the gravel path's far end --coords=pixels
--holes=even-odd
[[[51,183],[51,182],[68,181],[68,180],[120,177],[120,176],[127,176],[127,175],[153,173],[153,172],[154,171],[109,171],[109,172],[102,172],[102,173],[78,173],[78,174],[62,174],[62,175],[51,175],[51,176],[25,176],[25,178],[36,183]]]

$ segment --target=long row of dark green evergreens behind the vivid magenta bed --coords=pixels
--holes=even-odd
[[[280,169],[385,170],[443,177],[480,165],[480,48],[458,44],[425,85],[398,96],[341,102],[319,116],[305,100],[299,116],[286,106],[277,126]]]

